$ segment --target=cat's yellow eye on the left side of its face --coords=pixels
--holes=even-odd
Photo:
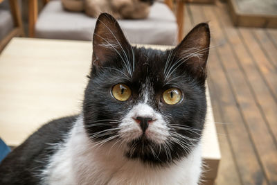
[[[125,101],[131,96],[131,89],[125,84],[117,84],[111,89],[111,94],[116,100]]]

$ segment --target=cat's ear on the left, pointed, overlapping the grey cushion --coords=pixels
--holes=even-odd
[[[93,64],[101,66],[127,46],[129,42],[116,19],[107,13],[100,14],[93,34]]]

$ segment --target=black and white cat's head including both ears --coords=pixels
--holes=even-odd
[[[123,145],[124,157],[150,164],[188,155],[206,116],[209,43],[208,25],[199,24],[175,49],[134,47],[113,17],[100,15],[83,105],[91,141]]]

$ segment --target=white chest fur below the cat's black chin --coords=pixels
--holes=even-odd
[[[170,167],[152,168],[123,157],[114,143],[96,146],[78,118],[66,142],[43,172],[43,184],[197,184],[201,175],[201,147]]]

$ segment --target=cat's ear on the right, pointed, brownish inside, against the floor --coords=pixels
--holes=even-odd
[[[179,62],[184,62],[199,79],[206,79],[206,63],[210,46],[210,29],[208,24],[198,24],[176,46],[176,56]],[[177,61],[178,61],[177,60]]]

